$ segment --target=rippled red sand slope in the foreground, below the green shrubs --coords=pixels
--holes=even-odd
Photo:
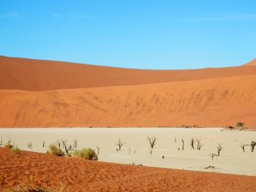
[[[34,184],[69,191],[255,191],[256,177],[109,164],[0,148],[0,187]]]

